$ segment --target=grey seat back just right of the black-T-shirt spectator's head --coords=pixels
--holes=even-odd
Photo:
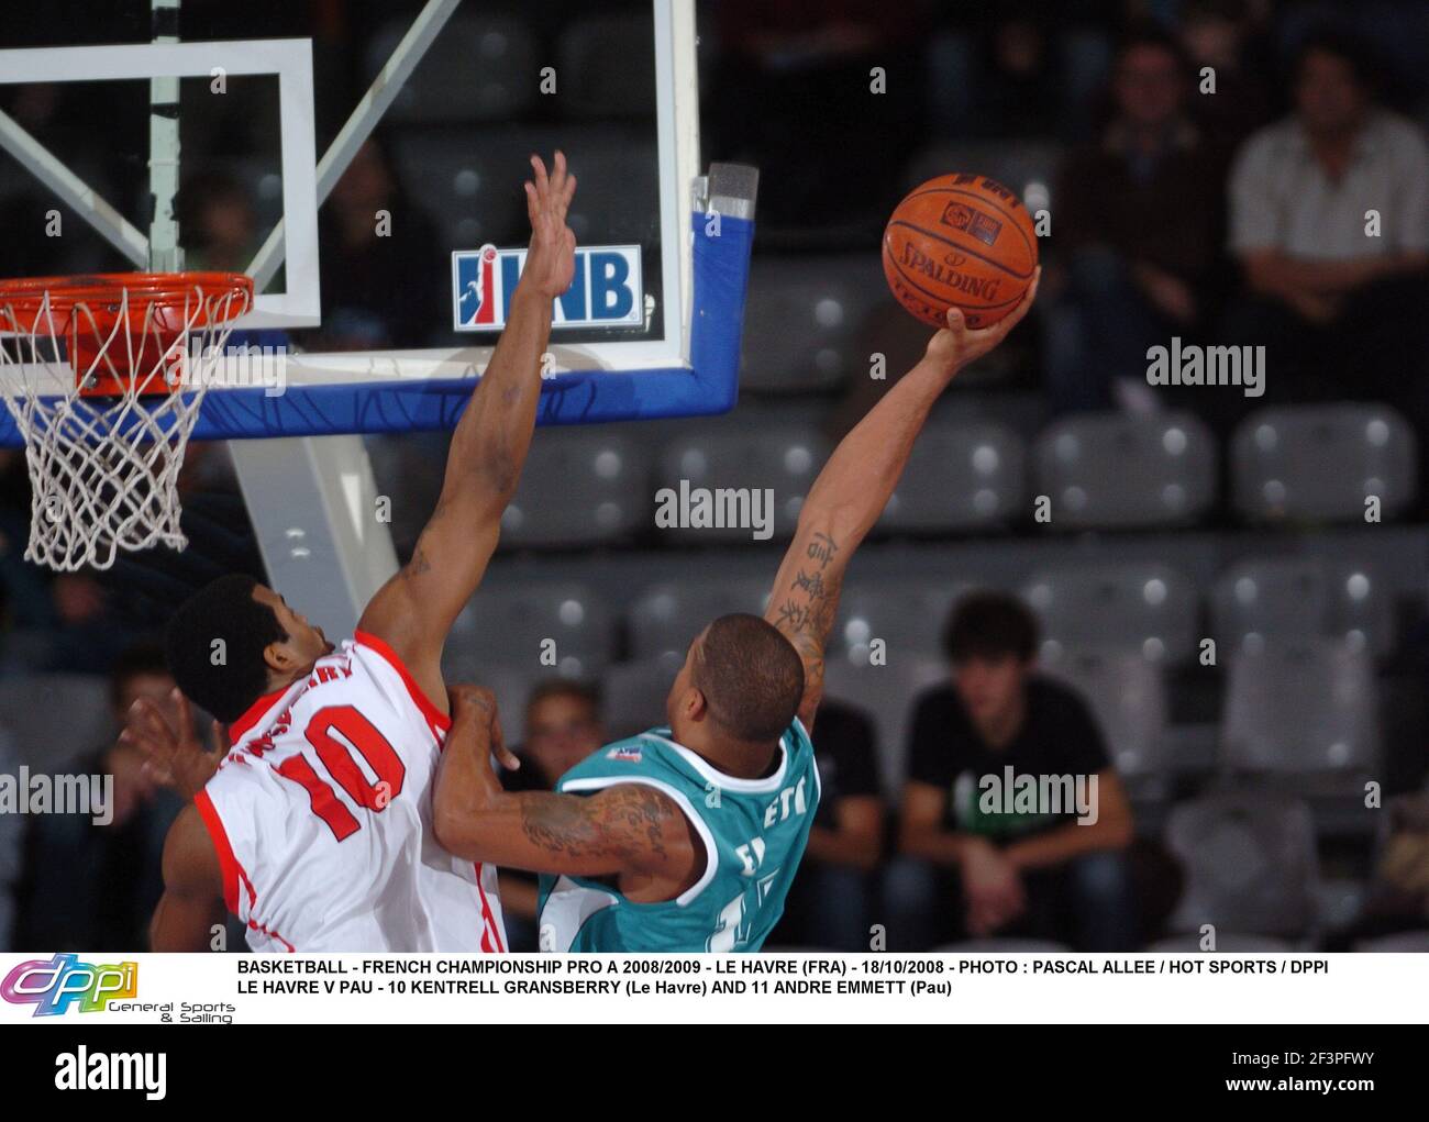
[[[1023,596],[1042,620],[1045,659],[1060,650],[1115,646],[1176,665],[1196,650],[1196,590],[1166,565],[1045,570],[1027,582]]]

